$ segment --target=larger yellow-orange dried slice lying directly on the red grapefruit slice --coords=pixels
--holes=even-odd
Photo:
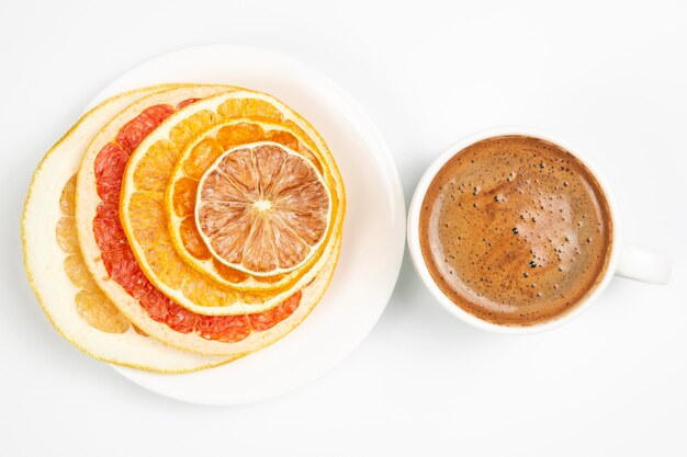
[[[308,138],[322,155],[323,178],[331,193],[331,222],[322,255],[288,289],[261,294],[225,287],[183,262],[169,232],[164,197],[181,151],[214,126],[237,117],[261,117],[289,126]],[[79,176],[79,181],[80,181]],[[311,283],[326,264],[340,237],[345,210],[344,186],[326,145],[295,112],[270,95],[237,90],[210,96],[170,116],[148,135],[128,160],[122,182],[121,218],[136,260],[150,282],[184,308],[202,315],[256,313],[286,299],[292,290]]]

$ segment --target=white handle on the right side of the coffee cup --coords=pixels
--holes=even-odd
[[[667,284],[671,278],[673,262],[661,251],[624,243],[620,248],[618,276],[651,284]]]

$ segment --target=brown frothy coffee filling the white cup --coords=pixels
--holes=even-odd
[[[551,142],[503,136],[460,151],[420,210],[430,274],[465,311],[504,325],[553,320],[608,266],[612,222],[592,172]]]

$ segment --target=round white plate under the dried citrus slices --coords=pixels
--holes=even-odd
[[[271,346],[225,366],[185,375],[115,369],[146,389],[206,404],[259,401],[315,380],[368,335],[398,276],[405,204],[384,140],[333,81],[291,57],[247,46],[200,46],[154,58],[116,79],[90,105],[162,82],[226,83],[264,91],[308,119],[327,141],[346,184],[344,244],[322,302]]]

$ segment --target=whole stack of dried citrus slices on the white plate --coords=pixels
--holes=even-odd
[[[34,173],[24,261],[46,315],[104,362],[217,366],[317,305],[346,196],[325,141],[266,93],[165,84],[87,113]]]

